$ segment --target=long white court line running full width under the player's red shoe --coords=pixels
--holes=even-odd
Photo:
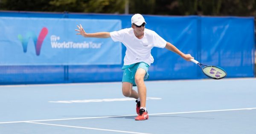
[[[222,110],[208,110],[208,111],[188,111],[188,112],[160,113],[160,114],[148,114],[148,115],[189,114],[189,113],[203,113],[203,112],[217,112],[217,111],[238,111],[238,110],[253,110],[253,109],[256,109],[256,108],[238,108],[238,109],[222,109]],[[133,115],[117,115],[117,116],[102,116],[102,117],[84,117],[84,118],[50,119],[50,120],[12,121],[12,122],[0,122],[0,124],[6,124],[6,123],[26,123],[26,122],[42,122],[42,121],[57,121],[57,120],[96,119],[96,118],[128,117],[128,116],[137,116],[137,114],[133,114]]]

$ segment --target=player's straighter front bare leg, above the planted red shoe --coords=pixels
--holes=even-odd
[[[138,94],[140,97],[140,107],[146,107],[146,94],[147,89],[144,83],[144,76],[146,71],[143,68],[138,68],[135,74],[135,83],[138,88]]]

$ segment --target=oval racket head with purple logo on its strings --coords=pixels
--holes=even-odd
[[[227,73],[216,66],[206,66],[203,68],[204,74],[206,74],[208,77],[212,77],[215,79],[221,79],[227,75]]]

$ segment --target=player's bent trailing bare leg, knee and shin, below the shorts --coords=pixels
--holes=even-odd
[[[122,83],[122,93],[125,97],[131,97],[134,99],[139,98],[139,94],[132,89],[132,83],[123,82]]]

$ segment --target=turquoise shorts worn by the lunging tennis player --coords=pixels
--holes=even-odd
[[[133,86],[136,86],[134,77],[138,68],[143,68],[146,71],[144,80],[147,80],[149,77],[149,74],[148,74],[149,65],[147,63],[140,62],[140,63],[134,63],[131,65],[122,66],[122,70],[124,70],[122,82],[132,83]]]

